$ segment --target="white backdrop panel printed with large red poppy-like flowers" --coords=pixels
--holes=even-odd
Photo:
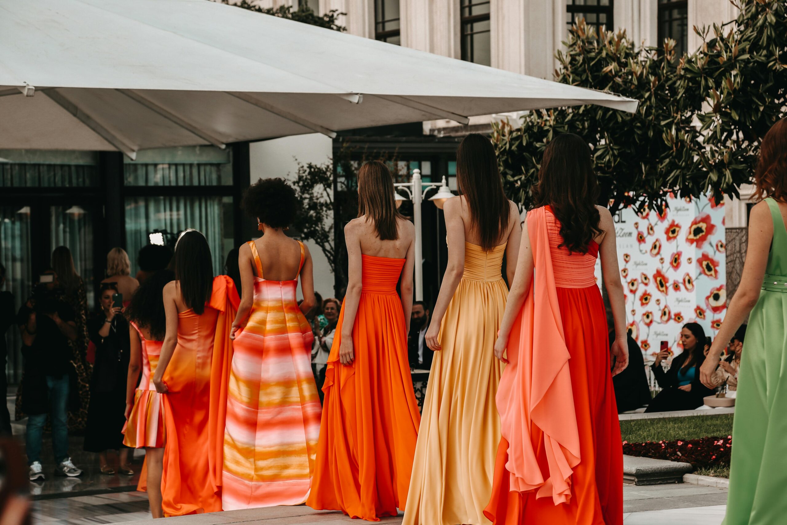
[[[645,362],[662,341],[681,353],[690,321],[715,338],[726,309],[723,202],[671,196],[663,209],[625,209],[615,223],[628,329]]]

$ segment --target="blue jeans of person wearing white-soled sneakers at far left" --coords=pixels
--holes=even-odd
[[[54,460],[60,464],[68,457],[68,374],[61,377],[46,376],[46,388],[52,404],[52,448]],[[46,414],[28,416],[28,431],[24,436],[28,452],[28,465],[41,460],[41,442],[46,424]]]

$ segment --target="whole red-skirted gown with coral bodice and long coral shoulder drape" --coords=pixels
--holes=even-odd
[[[508,339],[497,409],[493,523],[623,524],[623,447],[598,245],[560,248],[549,207],[527,214],[534,279]],[[610,234],[611,235],[611,234]]]

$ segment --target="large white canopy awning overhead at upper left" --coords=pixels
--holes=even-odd
[[[25,96],[27,94],[28,96]],[[637,101],[205,0],[0,0],[0,148],[137,150]]]

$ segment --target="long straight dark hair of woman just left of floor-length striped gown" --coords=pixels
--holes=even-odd
[[[213,264],[205,235],[192,229],[183,231],[175,245],[172,268],[183,304],[201,316],[213,291]]]

